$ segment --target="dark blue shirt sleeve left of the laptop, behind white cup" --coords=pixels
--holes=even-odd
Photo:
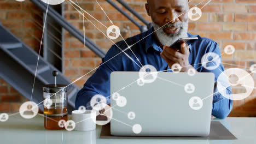
[[[102,59],[100,67],[86,81],[84,87],[78,92],[75,98],[75,109],[79,106],[85,106],[86,109],[92,109],[90,105],[91,98],[96,94],[106,97],[107,104],[110,103],[110,74],[112,71],[121,70],[121,51],[113,45],[106,56]]]

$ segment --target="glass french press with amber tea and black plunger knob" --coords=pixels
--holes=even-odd
[[[67,121],[67,85],[56,84],[57,71],[53,71],[55,84],[44,85],[44,128],[64,129],[59,126],[63,119]]]

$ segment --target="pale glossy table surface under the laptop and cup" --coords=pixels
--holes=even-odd
[[[0,122],[0,143],[256,143],[256,118],[228,117],[220,121],[237,140],[154,140],[154,139],[100,139],[101,126],[93,131],[46,130],[43,116],[24,119],[19,114]]]

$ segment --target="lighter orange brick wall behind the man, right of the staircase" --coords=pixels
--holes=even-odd
[[[79,5],[98,21],[109,27],[111,23],[106,15],[101,11],[100,7],[94,0],[77,0]],[[0,0],[0,2],[2,2]],[[74,1],[76,2],[76,1]],[[138,34],[138,28],[115,10],[111,5],[103,0],[98,0],[100,5],[106,11],[114,25],[120,27],[121,34],[124,38]],[[141,15],[150,21],[144,9],[146,0],[127,0],[125,1],[136,9]],[[191,6],[201,2],[201,0],[191,0]],[[207,1],[205,1],[206,3]],[[15,2],[14,2],[15,3]],[[198,7],[201,8],[204,3]],[[118,4],[120,6],[120,4]],[[125,8],[123,8],[125,10]],[[7,13],[3,10],[1,13]],[[4,11],[4,12],[2,12]],[[130,14],[130,13],[129,13]],[[66,19],[75,27],[83,32],[83,17],[68,3],[65,2],[64,15]],[[131,14],[130,14],[131,15]],[[94,23],[102,32],[106,32],[106,28],[99,22],[93,20],[86,15],[89,20]],[[226,45],[234,45],[236,52],[234,55],[223,55],[223,63],[225,68],[243,68],[249,70],[249,66],[256,63],[256,1],[255,0],[212,0],[210,4],[202,9],[202,17],[196,22],[189,23],[189,32],[192,34],[200,34],[202,37],[208,37],[216,40],[220,50],[223,53],[223,47]],[[2,19],[2,18],[1,18]],[[5,18],[6,19],[6,18]],[[98,31],[88,20],[85,20],[85,34],[92,39],[98,46],[104,50],[108,50],[113,43]],[[121,38],[115,40],[119,41]],[[101,59],[91,52],[83,43],[65,32],[65,75],[72,81],[78,77],[88,73],[101,63]],[[228,63],[228,64],[226,64]],[[234,66],[235,65],[235,66]],[[76,82],[80,87],[84,85],[86,80],[92,75],[90,73]],[[252,75],[254,80],[256,75]],[[256,81],[255,81],[256,83]],[[7,85],[7,84],[6,84]],[[239,89],[234,89],[234,92]],[[234,101],[234,108],[230,116],[256,116],[256,91],[245,100]]]

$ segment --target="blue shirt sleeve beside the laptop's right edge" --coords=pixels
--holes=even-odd
[[[220,59],[222,58],[219,46],[216,42],[208,44],[208,52],[214,52],[219,55]],[[214,73],[215,75],[212,115],[222,119],[227,117],[232,109],[232,100],[223,97],[223,95],[219,93],[219,89],[217,88],[217,79],[223,71],[224,66],[221,61],[219,67],[214,70],[207,70],[205,68],[202,68],[202,72],[210,72]],[[226,88],[226,94],[232,94],[231,87]]]

